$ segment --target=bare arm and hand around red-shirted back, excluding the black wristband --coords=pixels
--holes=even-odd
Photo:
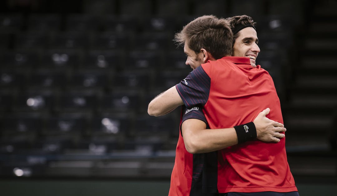
[[[286,131],[283,124],[266,117],[269,108],[254,119],[257,139],[263,142],[279,142]],[[186,150],[189,153],[207,153],[238,144],[235,128],[206,129],[206,123],[198,119],[187,119],[181,125]]]

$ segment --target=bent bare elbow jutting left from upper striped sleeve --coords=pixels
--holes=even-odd
[[[162,116],[170,113],[178,106],[184,105],[176,86],[173,86],[156,96],[148,106],[150,116]]]

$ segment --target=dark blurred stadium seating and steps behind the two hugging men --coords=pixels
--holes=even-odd
[[[167,195],[179,109],[151,99],[191,70],[172,39],[250,15],[281,101],[300,195],[337,188],[337,1],[0,2],[1,195]]]

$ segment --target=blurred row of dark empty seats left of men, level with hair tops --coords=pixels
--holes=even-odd
[[[27,31],[34,33],[59,31],[89,32],[170,32],[177,30],[179,20],[173,17],[135,17],[86,14],[31,14],[27,21],[20,14],[0,16],[0,32]],[[141,28],[141,29],[140,29]],[[180,25],[179,25],[180,28]]]

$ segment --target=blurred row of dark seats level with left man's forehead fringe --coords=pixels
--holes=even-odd
[[[2,49],[146,49],[174,50],[174,32],[156,33],[1,33]]]

